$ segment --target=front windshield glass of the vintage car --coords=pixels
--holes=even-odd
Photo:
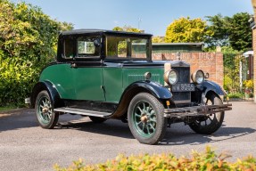
[[[106,37],[107,58],[149,58],[149,39],[142,37]]]

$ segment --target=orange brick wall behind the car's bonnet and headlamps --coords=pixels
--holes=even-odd
[[[153,53],[153,60],[177,60],[177,57],[176,53]],[[197,69],[202,69],[204,73],[208,72],[210,74],[209,80],[223,86],[222,53],[181,53],[180,59],[190,63],[191,73]]]

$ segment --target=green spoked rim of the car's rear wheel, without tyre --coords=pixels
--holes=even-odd
[[[49,124],[53,116],[52,103],[48,97],[43,96],[38,101],[37,116],[42,124]]]

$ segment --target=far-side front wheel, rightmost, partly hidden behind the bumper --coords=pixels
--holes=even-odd
[[[209,94],[207,96],[206,105],[218,105],[223,104],[216,94]],[[216,132],[222,125],[224,119],[224,111],[210,114],[208,116],[198,118],[192,124],[189,124],[190,128],[198,134],[212,134]]]

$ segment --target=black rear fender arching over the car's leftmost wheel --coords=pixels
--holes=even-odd
[[[37,94],[39,94],[41,91],[46,90],[48,94],[50,95],[51,101],[54,104],[54,108],[62,107],[64,106],[64,102],[62,102],[61,97],[58,93],[58,91],[55,88],[55,85],[53,85],[49,81],[41,81],[38,82],[34,87],[31,94],[31,107],[35,107]]]

